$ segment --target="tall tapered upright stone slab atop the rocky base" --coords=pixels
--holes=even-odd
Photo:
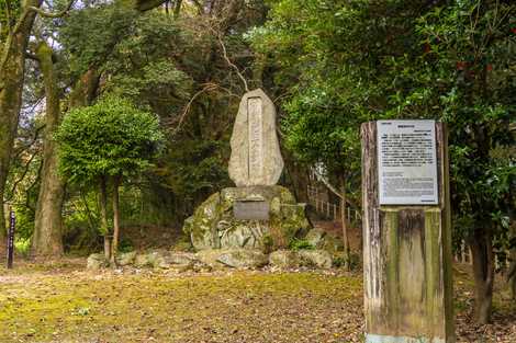
[[[229,178],[238,187],[278,183],[283,159],[276,134],[276,108],[261,89],[242,98],[231,147]]]

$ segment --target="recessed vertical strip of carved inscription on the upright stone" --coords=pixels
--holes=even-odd
[[[261,99],[247,100],[247,122],[249,123],[249,179],[259,180],[263,173],[263,116]]]

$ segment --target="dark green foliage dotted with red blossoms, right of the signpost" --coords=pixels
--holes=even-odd
[[[428,50],[422,60],[444,76],[436,106],[450,128],[456,232],[491,232],[498,252],[508,248],[516,201],[514,14],[514,4],[461,1],[417,25]]]

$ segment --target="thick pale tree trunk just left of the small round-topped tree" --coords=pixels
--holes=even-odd
[[[59,89],[52,53],[52,48],[46,42],[42,42],[37,46],[36,56],[45,83],[46,113],[42,181],[32,238],[32,253],[36,256],[60,256],[63,254],[61,209],[65,199],[65,183],[57,173],[57,144],[53,139],[53,134],[59,126],[60,113]]]

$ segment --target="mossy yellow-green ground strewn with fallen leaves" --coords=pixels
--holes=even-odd
[[[472,283],[456,271],[459,342],[516,342],[516,305],[471,321]],[[361,274],[86,272],[83,260],[0,268],[0,342],[361,342]],[[483,341],[482,341],[483,340]]]

